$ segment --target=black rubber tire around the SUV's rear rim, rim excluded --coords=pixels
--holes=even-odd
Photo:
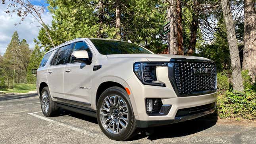
[[[46,92],[48,94],[48,99],[49,99],[49,108],[48,111],[45,112],[42,106],[42,95],[43,93]],[[44,116],[46,117],[52,117],[55,116],[58,112],[58,106],[56,106],[56,103],[52,100],[51,95],[50,95],[50,91],[49,88],[46,86],[42,89],[41,94],[40,94],[40,104],[41,104],[41,109],[42,109],[42,113],[44,114]]]

